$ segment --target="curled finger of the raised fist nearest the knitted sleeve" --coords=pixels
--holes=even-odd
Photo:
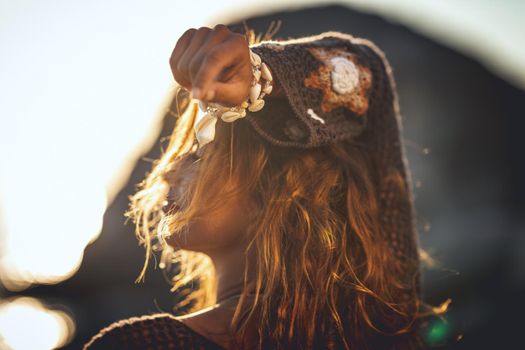
[[[217,81],[220,73],[231,65],[248,60],[246,39],[242,35],[232,36],[208,52],[192,82],[193,88],[200,90],[201,99],[205,101],[213,99],[215,91],[210,90],[210,87]]]

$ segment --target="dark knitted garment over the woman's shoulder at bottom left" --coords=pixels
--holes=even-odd
[[[101,329],[84,350],[97,349],[223,350],[168,313],[131,317]]]

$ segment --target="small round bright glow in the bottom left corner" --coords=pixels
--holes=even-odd
[[[74,333],[71,317],[35,299],[0,302],[1,349],[54,349],[66,345]]]

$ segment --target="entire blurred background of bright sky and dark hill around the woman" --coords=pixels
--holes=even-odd
[[[525,325],[525,2],[0,1],[0,349],[78,349],[176,295],[123,212],[173,128],[188,28],[337,30],[394,69],[427,302],[443,349],[517,349]],[[28,336],[29,335],[29,336]]]

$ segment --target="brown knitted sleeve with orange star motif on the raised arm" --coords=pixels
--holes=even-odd
[[[402,262],[418,266],[412,180],[395,81],[384,53],[368,40],[334,31],[250,48],[270,67],[289,103],[247,112],[253,128],[283,147],[312,148],[352,138],[366,144],[380,161],[384,238]],[[399,193],[396,171],[407,193]],[[419,272],[414,273],[419,292]]]

